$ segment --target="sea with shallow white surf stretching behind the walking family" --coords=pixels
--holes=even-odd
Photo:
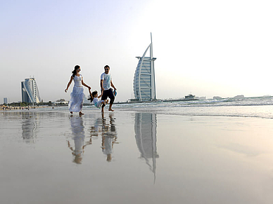
[[[92,105],[84,106],[84,110],[97,109]],[[229,116],[273,118],[273,96],[223,98],[221,100],[181,100],[141,103],[115,103],[117,111],[152,111],[155,114],[182,116]],[[15,110],[21,111],[21,110]],[[46,107],[30,109],[30,111],[68,111],[68,107]],[[106,107],[106,111],[107,107]]]

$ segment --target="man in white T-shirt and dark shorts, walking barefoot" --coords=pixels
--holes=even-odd
[[[101,100],[107,100],[107,98],[109,97],[110,98],[110,105],[109,105],[109,111],[114,111],[112,109],[112,105],[114,103],[114,100],[115,100],[115,95],[113,93],[113,89],[111,87],[114,88],[114,90],[117,90],[112,82],[112,76],[111,74],[109,74],[110,72],[110,67],[108,65],[106,65],[104,67],[104,72],[103,74],[101,74],[101,92],[103,93],[102,94],[102,97],[101,97]],[[101,106],[101,111],[103,112],[103,109],[106,105],[105,104],[102,104]]]

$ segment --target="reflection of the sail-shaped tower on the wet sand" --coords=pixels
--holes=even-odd
[[[156,114],[136,113],[134,131],[136,133],[136,145],[139,148],[141,158],[153,172],[155,181],[156,158]]]

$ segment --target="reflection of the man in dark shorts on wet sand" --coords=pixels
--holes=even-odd
[[[101,149],[103,154],[106,154],[106,161],[112,161],[113,154],[113,146],[117,144],[117,132],[115,130],[115,118],[113,114],[109,114],[109,123],[107,123],[106,118],[104,118],[104,114],[102,113],[102,141],[101,141]]]

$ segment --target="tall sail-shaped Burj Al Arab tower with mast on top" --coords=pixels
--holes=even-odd
[[[150,49],[150,56],[146,57],[147,51]],[[155,67],[153,57],[153,41],[151,34],[151,43],[146,48],[142,57],[139,59],[136,72],[134,72],[134,101],[152,101],[155,97]]]

